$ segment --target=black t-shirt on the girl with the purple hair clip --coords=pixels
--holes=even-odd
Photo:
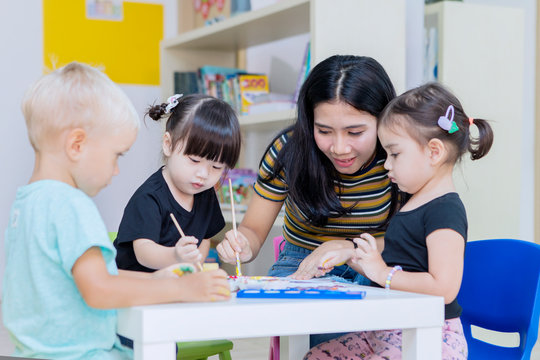
[[[382,257],[388,266],[404,271],[429,269],[426,238],[438,229],[452,229],[467,241],[467,214],[457,193],[448,193],[411,211],[394,215],[384,236]],[[445,319],[461,315],[456,299],[445,305]]]

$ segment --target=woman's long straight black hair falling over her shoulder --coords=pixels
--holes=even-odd
[[[340,183],[339,173],[315,143],[315,107],[342,102],[378,117],[395,96],[386,71],[370,57],[334,55],[309,73],[300,89],[295,124],[276,137],[293,131],[279,152],[270,179],[282,170],[286,173],[288,196],[313,224],[324,226],[329,217],[340,217],[349,211],[341,205],[335,191]],[[384,151],[378,140],[374,150]],[[393,187],[392,202],[397,198],[397,187]]]

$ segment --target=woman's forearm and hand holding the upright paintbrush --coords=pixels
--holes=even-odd
[[[228,231],[217,246],[219,257],[229,264],[236,263],[235,252],[239,253],[242,262],[255,259],[282,205],[283,202],[270,201],[255,193],[238,226],[238,238],[235,238],[233,230]]]

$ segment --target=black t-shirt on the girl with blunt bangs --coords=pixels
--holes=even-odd
[[[162,169],[150,176],[131,197],[120,222],[118,237],[114,241],[118,253],[119,269],[152,272],[135,257],[133,240],[150,239],[159,245],[173,247],[180,239],[170,214],[173,213],[186,236],[199,239],[211,238],[223,229],[225,220],[214,189],[194,195],[191,211],[184,209],[174,199]],[[198,246],[197,245],[197,246]]]

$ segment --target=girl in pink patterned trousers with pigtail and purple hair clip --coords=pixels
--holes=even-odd
[[[473,137],[470,128],[478,128]],[[469,152],[484,157],[493,143],[486,120],[465,114],[459,100],[438,83],[409,90],[392,100],[378,122],[391,181],[411,194],[390,220],[384,251],[362,234],[355,249],[328,252],[323,271],[349,266],[374,286],[444,297],[442,358],[467,359],[467,342],[456,297],[463,274],[467,216],[452,179],[454,165]],[[319,344],[305,359],[401,359],[401,330],[351,333]]]

